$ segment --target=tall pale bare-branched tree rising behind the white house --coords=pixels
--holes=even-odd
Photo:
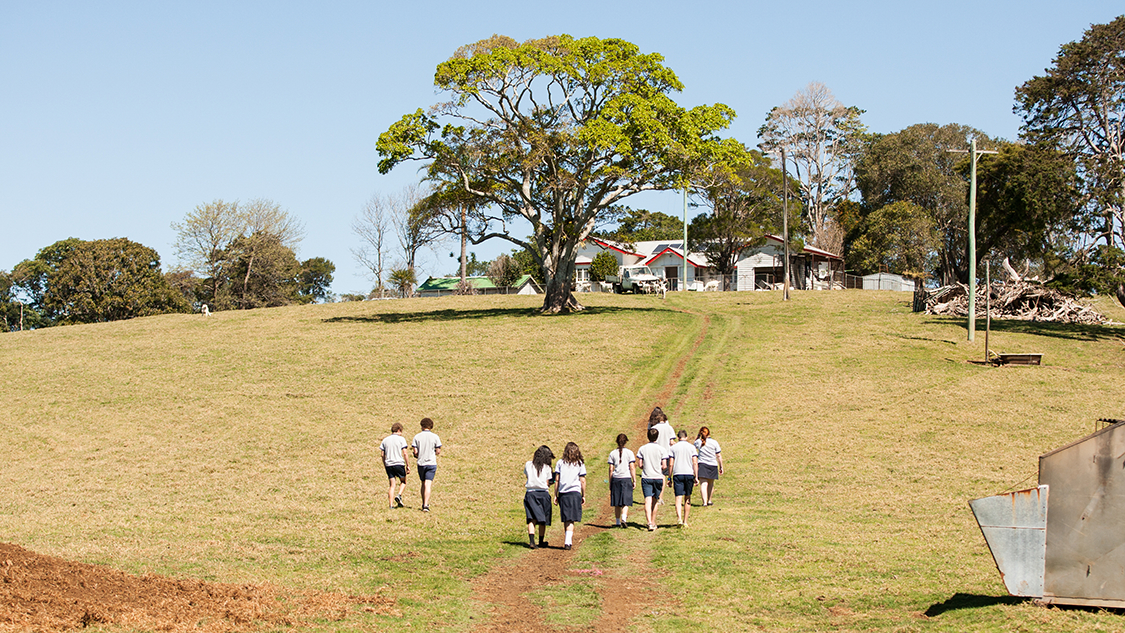
[[[758,129],[762,151],[776,155],[784,147],[788,162],[795,168],[812,241],[821,248],[837,246],[829,214],[854,189],[853,159],[866,132],[862,114],[839,102],[825,84],[813,82],[770,110]]]

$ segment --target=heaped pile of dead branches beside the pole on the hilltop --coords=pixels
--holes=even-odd
[[[988,297],[991,292],[991,297]],[[975,311],[984,317],[991,300],[991,316],[996,319],[1035,320],[1050,323],[1079,323],[1099,325],[1108,323],[1105,316],[1073,297],[1046,288],[1034,281],[993,281],[991,287],[976,287]],[[969,316],[969,287],[963,283],[943,286],[927,292],[926,314]]]

